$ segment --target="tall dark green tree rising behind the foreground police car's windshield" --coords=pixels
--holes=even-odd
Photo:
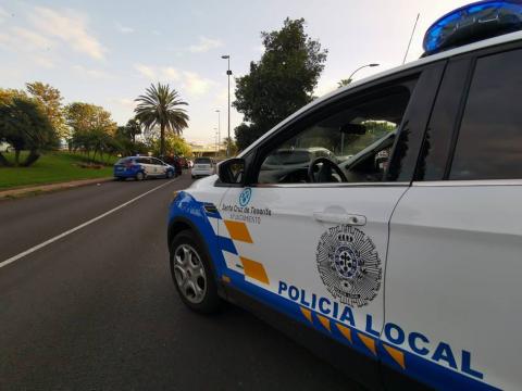
[[[233,105],[250,124],[236,128],[241,150],[312,101],[326,61],[327,50],[304,33],[303,18],[286,18],[281,30],[263,31],[261,37],[265,48],[261,60],[252,61],[250,73],[236,79]]]

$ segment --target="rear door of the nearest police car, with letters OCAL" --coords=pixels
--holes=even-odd
[[[522,388],[520,47],[451,61],[390,222],[383,340],[437,389]]]

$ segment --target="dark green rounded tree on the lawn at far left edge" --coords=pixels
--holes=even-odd
[[[0,103],[0,139],[13,146],[16,166],[32,165],[42,151],[58,143],[52,124],[39,103],[26,97],[14,97],[8,103]],[[29,154],[21,163],[20,153],[23,150],[28,150]],[[4,156],[0,157],[0,163],[9,165]]]

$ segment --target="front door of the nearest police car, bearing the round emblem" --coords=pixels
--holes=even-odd
[[[325,163],[312,169],[320,182],[307,182],[310,162],[303,156],[312,155],[312,148],[356,154],[403,124],[397,165],[405,177],[411,175],[420,146],[414,134],[425,126],[440,73],[442,65],[433,65],[359,89],[307,113],[256,149],[247,168],[251,185],[232,187],[220,204],[221,247],[233,288],[378,358],[388,222],[409,181],[385,180],[374,165],[378,151],[369,150],[360,172],[346,173],[350,182],[338,182],[339,174]],[[393,141],[386,146],[391,147]]]

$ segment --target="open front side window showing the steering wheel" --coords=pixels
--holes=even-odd
[[[326,110],[269,150],[258,184],[382,180],[409,100],[399,85]]]

